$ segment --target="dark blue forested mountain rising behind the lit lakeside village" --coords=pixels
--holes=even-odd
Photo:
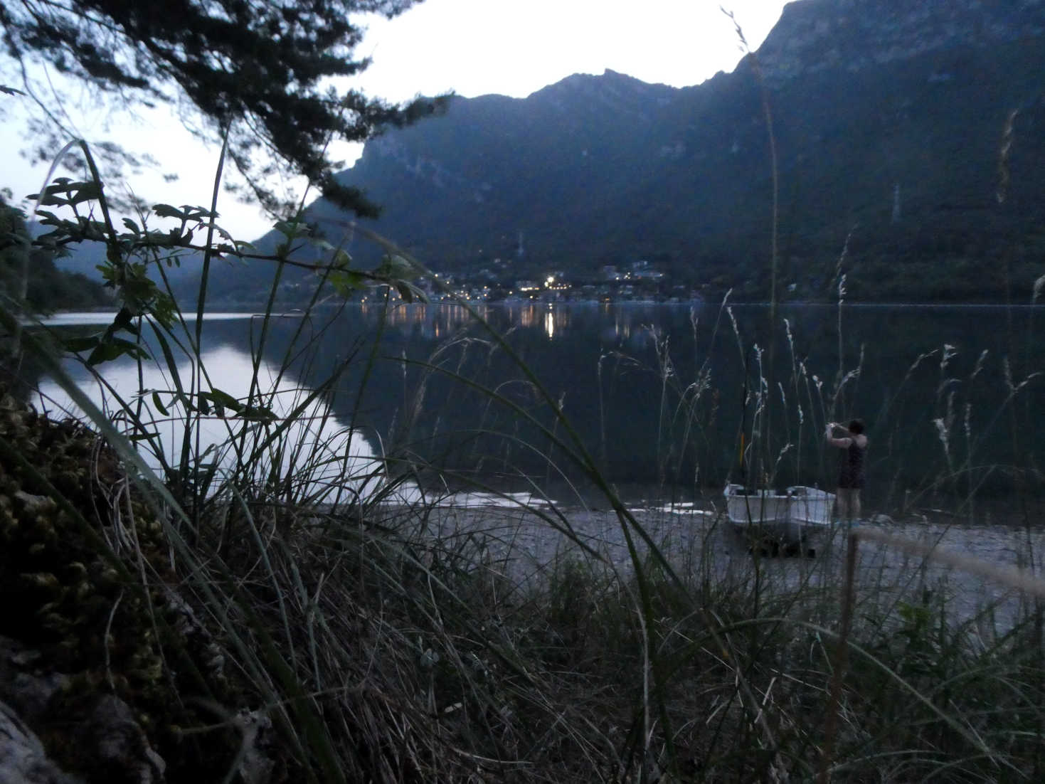
[[[596,276],[647,259],[707,296],[1029,301],[1045,256],[1045,3],[799,0],[683,89],[607,71],[456,99],[340,175],[431,269]],[[368,245],[308,210],[361,263]],[[273,247],[275,238],[259,240]],[[240,268],[217,296],[245,287]],[[288,281],[299,278],[288,276]],[[300,282],[300,281],[299,281]]]

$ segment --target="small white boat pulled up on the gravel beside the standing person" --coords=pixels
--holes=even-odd
[[[734,528],[763,550],[775,553],[784,547],[815,554],[812,545],[831,527],[834,493],[816,487],[799,485],[780,493],[728,484],[723,494]]]

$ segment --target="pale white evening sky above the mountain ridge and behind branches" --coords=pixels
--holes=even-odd
[[[724,4],[757,49],[785,2]],[[521,98],[573,73],[606,69],[686,87],[732,71],[742,55],[733,22],[714,0],[425,0],[394,20],[375,18],[367,26],[357,53],[373,63],[353,86],[390,100],[448,91]],[[0,143],[11,151],[3,156],[0,188],[10,188],[19,204],[40,189],[47,166],[30,167],[14,154],[26,146],[17,98],[0,95],[0,100],[8,109],[0,118]],[[127,178],[149,203],[209,205],[218,147],[193,140],[169,112],[135,119],[97,109],[74,114],[73,120],[89,140],[111,138],[159,159],[159,170]],[[335,155],[351,164],[361,152],[362,145],[342,145]],[[161,175],[170,171],[179,174],[178,182],[163,182]],[[257,208],[225,193],[218,212],[237,239],[254,239],[270,225]]]

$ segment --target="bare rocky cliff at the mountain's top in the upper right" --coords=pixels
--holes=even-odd
[[[759,48],[780,84],[818,71],[861,71],[953,46],[1003,46],[1045,34],[1043,0],[797,0]]]

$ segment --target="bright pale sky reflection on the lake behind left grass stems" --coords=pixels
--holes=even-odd
[[[225,345],[205,351],[202,366],[214,388],[241,402],[248,400],[254,373],[250,354]],[[126,360],[108,363],[102,366],[102,371],[112,390],[92,379],[75,363],[67,362],[65,369],[91,401],[110,417],[120,411],[116,395],[123,398],[133,411],[137,411],[140,405],[141,421],[146,423],[149,432],[157,434],[157,438],[138,442],[149,468],[160,474],[161,455],[167,465],[179,464],[185,434],[184,410],[177,405],[177,386],[165,367],[143,363],[139,379],[135,363]],[[178,374],[183,388],[186,388],[192,374],[187,361],[178,365]],[[199,418],[199,446],[193,444],[193,447],[199,448],[203,456],[202,463],[217,465],[218,476],[233,476],[237,463],[241,462],[237,459],[238,454],[256,453],[259,459],[249,461],[253,466],[250,479],[254,483],[264,483],[272,475],[272,467],[278,465],[280,478],[293,481],[298,491],[296,495],[308,498],[317,504],[347,503],[356,498],[372,500],[377,493],[380,493],[378,498],[381,501],[393,504],[438,502],[452,506],[500,506],[542,503],[529,493],[502,498],[490,493],[458,492],[442,493],[434,499],[431,491],[423,491],[414,482],[401,482],[389,488],[386,486],[384,461],[359,430],[353,430],[340,420],[321,398],[309,400],[311,390],[297,385],[286,375],[280,376],[275,366],[262,362],[257,377],[264,390],[261,405],[272,411],[275,421],[264,425],[235,418],[231,412],[230,416],[222,417],[213,411]],[[136,398],[139,389],[143,390],[143,394]],[[154,393],[168,415],[156,406]],[[84,418],[83,411],[53,381],[40,385],[40,395],[52,417],[63,412],[67,416]],[[255,405],[257,395],[255,391]],[[266,443],[272,432],[295,412],[293,423],[272,443]],[[125,422],[125,417],[116,417],[115,421]],[[130,428],[124,430],[132,435]]]

